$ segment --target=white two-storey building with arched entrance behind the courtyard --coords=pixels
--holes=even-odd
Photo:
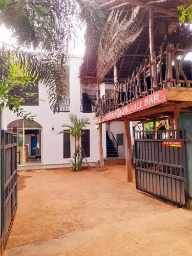
[[[84,145],[88,162],[98,162],[98,130],[94,123],[94,105],[86,98],[86,90],[80,84],[78,77],[81,61],[81,57],[70,58],[66,78],[68,95],[65,104],[59,107],[57,114],[53,114],[50,110],[46,88],[41,83],[37,87],[39,100],[36,103],[33,102],[33,104],[26,102],[23,106],[25,111],[36,115],[33,125],[19,119],[16,114],[8,110],[3,112],[2,129],[11,130],[13,126],[17,126],[18,164],[30,166],[69,163],[75,148],[74,138],[69,138],[68,135],[59,134],[59,132],[62,130],[62,124],[70,124],[68,118],[70,113],[77,114],[79,118],[86,116],[90,119],[91,124],[86,127],[88,131],[83,135],[82,144]],[[112,86],[112,84],[101,84],[100,92],[104,93],[106,89]],[[91,91],[93,87],[88,87],[87,90]],[[108,132],[110,138],[113,133],[119,143],[118,156],[124,157],[123,122],[102,124],[104,157],[106,157],[106,132]]]

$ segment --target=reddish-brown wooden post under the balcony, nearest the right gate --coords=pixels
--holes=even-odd
[[[130,133],[130,121],[129,119],[124,119],[124,130],[126,139],[126,172],[127,172],[127,182],[133,181],[132,176],[132,143],[131,143],[131,133]]]

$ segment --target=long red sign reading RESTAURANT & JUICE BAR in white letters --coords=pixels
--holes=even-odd
[[[164,103],[166,101],[167,101],[167,90],[163,89],[151,95],[148,95],[142,99],[136,100],[131,104],[122,106],[122,108],[118,110],[114,110],[108,114],[103,115],[102,122],[117,119],[119,117],[123,117],[129,114],[135,113],[137,111],[150,108],[151,106],[155,106],[160,103]]]

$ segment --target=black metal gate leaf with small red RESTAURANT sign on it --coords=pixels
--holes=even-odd
[[[183,130],[134,131],[136,188],[187,207]]]

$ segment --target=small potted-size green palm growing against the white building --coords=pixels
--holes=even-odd
[[[78,118],[76,114],[70,114],[69,120],[71,122],[71,125],[69,124],[63,124],[61,127],[65,128],[67,127],[68,131],[62,131],[60,133],[67,133],[72,135],[75,138],[75,152],[73,155],[73,160],[71,160],[72,169],[73,170],[79,170],[81,168],[82,164],[82,154],[81,154],[81,148],[79,146],[79,140],[83,134],[82,129],[85,128],[88,124],[90,124],[90,120],[87,117],[81,117]],[[78,160],[78,161],[77,161]]]

